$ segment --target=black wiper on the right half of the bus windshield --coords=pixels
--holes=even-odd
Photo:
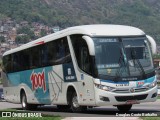
[[[141,70],[141,73],[142,73],[142,78],[143,78],[143,79],[146,79],[146,73],[145,73],[145,71],[144,71],[144,69],[143,69],[143,66],[141,65],[139,59],[136,59],[136,51],[135,51],[134,48],[131,48],[131,58],[132,58],[134,61],[137,62],[138,66],[139,66],[139,68],[140,68],[140,70]],[[135,63],[134,63],[134,64],[135,64]]]

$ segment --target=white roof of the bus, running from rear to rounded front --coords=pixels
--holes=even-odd
[[[59,32],[44,36],[27,44],[24,44],[20,47],[15,49],[11,49],[3,54],[3,56],[21,51],[23,49],[27,49],[39,44],[43,44],[58,38],[62,38],[72,34],[84,34],[88,36],[141,36],[145,35],[145,33],[132,26],[125,26],[125,25],[82,25],[82,26],[75,26],[70,27]]]

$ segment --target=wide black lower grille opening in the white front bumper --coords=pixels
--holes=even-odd
[[[116,96],[116,100],[118,102],[125,102],[127,100],[144,100],[146,99],[148,96],[148,94],[144,94],[144,95],[135,95],[135,96]]]

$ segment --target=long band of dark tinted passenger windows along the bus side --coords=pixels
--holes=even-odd
[[[67,38],[53,40],[3,57],[6,72],[17,72],[71,62]]]

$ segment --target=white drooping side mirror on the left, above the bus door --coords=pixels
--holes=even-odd
[[[92,38],[90,38],[89,36],[82,36],[82,38],[86,41],[88,45],[89,54],[95,55],[94,43],[93,43]]]

